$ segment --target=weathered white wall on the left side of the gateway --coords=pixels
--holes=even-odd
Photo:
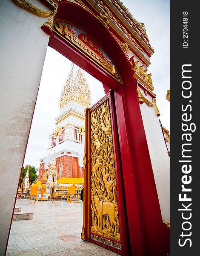
[[[29,0],[48,10],[37,0]],[[41,18],[0,0],[0,255],[4,255],[49,36]]]

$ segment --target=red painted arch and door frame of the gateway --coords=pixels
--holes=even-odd
[[[95,11],[94,11],[95,13]],[[98,14],[98,13],[97,13]],[[114,90],[117,133],[125,198],[126,229],[131,255],[166,256],[169,229],[163,224],[154,175],[137,96],[133,70],[114,36],[84,6],[62,1],[54,22],[64,21],[80,28],[109,55],[120,74],[122,85],[89,58],[53,33],[49,46],[69,58],[103,84]],[[59,63],[58,63],[59,65]]]

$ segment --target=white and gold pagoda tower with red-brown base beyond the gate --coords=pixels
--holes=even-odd
[[[71,63],[68,78],[60,95],[60,115],[49,135],[49,145],[40,159],[38,180],[43,180],[52,160],[61,177],[84,177],[85,109],[91,104],[91,92],[85,72]],[[55,154],[54,154],[55,152]],[[53,159],[55,157],[55,159]]]

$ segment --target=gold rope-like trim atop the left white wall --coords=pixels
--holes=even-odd
[[[52,15],[52,13],[54,11],[43,11],[37,7],[35,7],[34,5],[32,5],[31,3],[29,3],[27,0],[11,0],[14,4],[16,4],[18,7],[26,10],[27,12],[32,13],[33,15],[36,15],[38,17],[43,17],[43,18],[47,18],[50,17]]]

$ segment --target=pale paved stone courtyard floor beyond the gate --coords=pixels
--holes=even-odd
[[[34,212],[32,220],[13,221],[6,256],[117,256],[80,239],[83,203],[17,199],[22,212]]]

